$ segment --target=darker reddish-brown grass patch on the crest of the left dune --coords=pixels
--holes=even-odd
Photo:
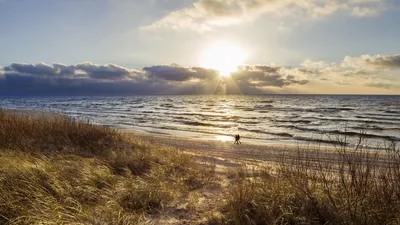
[[[0,111],[0,148],[43,153],[99,155],[121,145],[121,135],[110,128],[67,117],[29,119]]]

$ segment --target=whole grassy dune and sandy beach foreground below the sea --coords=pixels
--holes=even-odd
[[[2,111],[0,222],[398,219],[398,149],[255,142],[245,136],[234,144],[233,136],[149,133],[87,122],[53,112]],[[376,209],[389,217],[364,213]]]

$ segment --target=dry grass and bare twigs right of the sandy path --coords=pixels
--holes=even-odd
[[[245,176],[224,196],[219,224],[400,224],[400,150],[299,148],[271,176]],[[264,171],[267,173],[268,171]]]

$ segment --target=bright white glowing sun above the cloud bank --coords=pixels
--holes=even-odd
[[[221,76],[229,76],[245,59],[244,51],[237,45],[219,42],[206,48],[201,54],[201,66],[216,69]]]

